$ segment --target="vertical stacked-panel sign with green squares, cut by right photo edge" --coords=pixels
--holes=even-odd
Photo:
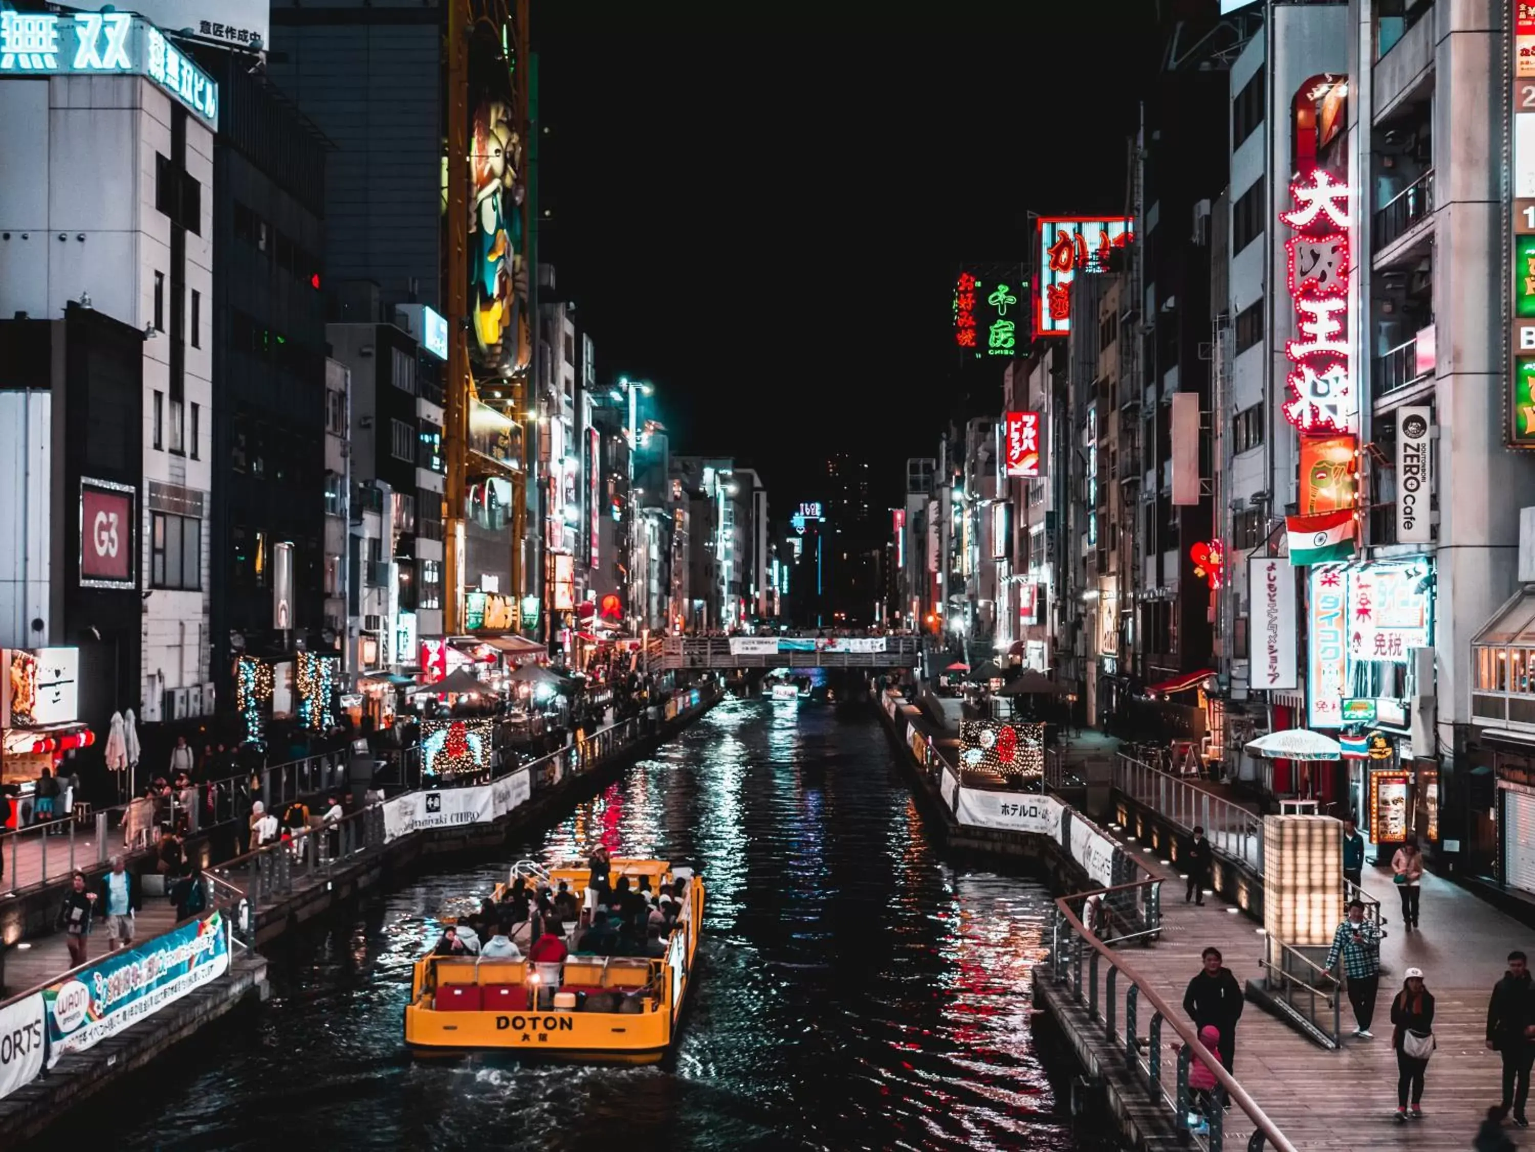
[[[1504,434],[1510,448],[1535,448],[1535,5],[1514,0],[1514,236],[1509,258],[1510,327],[1509,393]],[[1398,525],[1400,526],[1400,525]]]

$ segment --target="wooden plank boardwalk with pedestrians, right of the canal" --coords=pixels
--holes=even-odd
[[[1248,916],[1214,896],[1200,908],[1183,902],[1177,873],[1133,842],[1133,851],[1153,874],[1165,877],[1162,939],[1141,948],[1127,945],[1124,957],[1170,1006],[1180,1009],[1183,989],[1199,971],[1200,951],[1214,945],[1243,985],[1262,979],[1263,936]],[[1237,1081],[1274,1120],[1297,1149],[1461,1149],[1469,1147],[1486,1109],[1498,1103],[1501,1063],[1483,1045],[1487,997],[1501,977],[1509,950],[1535,953],[1535,934],[1495,911],[1471,893],[1424,876],[1423,933],[1400,930],[1397,897],[1389,877],[1366,871],[1365,887],[1385,905],[1388,939],[1382,946],[1386,973],[1372,1029],[1374,1040],[1345,1040],[1342,1051],[1326,1051],[1260,1006],[1248,1003],[1237,1026]],[[1423,968],[1434,992],[1434,1031],[1438,1051],[1429,1061],[1421,1121],[1397,1124],[1397,1063],[1391,1048],[1391,999],[1401,988],[1401,971]],[[1085,994],[1085,973],[1084,973]],[[1122,1019],[1122,1017],[1121,1017]],[[1139,1032],[1150,1015],[1142,1006]],[[1345,1034],[1354,1020],[1343,1003]],[[1164,1032],[1168,1045],[1171,1029]],[[1176,1052],[1164,1061],[1176,1068]],[[1167,1074],[1165,1074],[1167,1075]],[[1535,1103],[1532,1103],[1535,1109]],[[1251,1124],[1239,1109],[1226,1114],[1226,1147],[1245,1147]],[[1242,1143],[1234,1143],[1240,1135]],[[1535,1149],[1535,1131],[1510,1127],[1520,1147]]]

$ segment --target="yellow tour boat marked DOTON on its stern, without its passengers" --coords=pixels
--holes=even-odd
[[[614,859],[609,884],[648,879],[652,893],[682,887],[682,913],[666,937],[663,959],[594,956],[576,951],[560,963],[476,956],[424,956],[411,976],[405,1045],[416,1054],[503,1051],[519,1057],[648,1065],[677,1038],[683,1000],[694,977],[703,880],[668,861]],[[563,880],[583,908],[586,864],[543,870],[528,861],[513,868],[530,887]],[[505,885],[497,885],[499,900]],[[573,925],[566,925],[568,930]],[[569,931],[579,937],[580,931]]]

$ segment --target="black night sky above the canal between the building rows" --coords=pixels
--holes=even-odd
[[[1117,210],[1151,0],[534,0],[542,256],[602,380],[774,506],[864,454],[876,503],[956,399],[962,259]],[[999,396],[998,382],[998,396]]]

